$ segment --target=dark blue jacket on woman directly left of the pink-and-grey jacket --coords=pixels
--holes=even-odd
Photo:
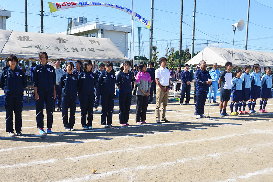
[[[131,93],[131,80],[132,80],[132,72],[125,73],[123,71],[119,72],[116,76],[116,86],[119,86],[119,92],[123,93]]]

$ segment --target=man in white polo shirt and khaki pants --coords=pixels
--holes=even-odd
[[[169,90],[170,90],[170,71],[166,68],[167,66],[167,58],[161,57],[159,59],[160,67],[155,71],[155,81],[157,83],[157,100],[156,100],[156,122],[161,123],[161,121],[169,122],[166,119],[166,109],[168,104]],[[159,108],[163,104],[161,108],[161,121],[159,116]]]

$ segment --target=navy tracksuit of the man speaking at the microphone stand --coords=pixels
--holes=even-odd
[[[210,85],[207,84],[207,80],[211,78],[211,75],[207,70],[202,71],[198,69],[195,72],[196,82],[196,103],[195,103],[195,115],[204,114],[204,106],[207,99],[207,93],[209,92]]]

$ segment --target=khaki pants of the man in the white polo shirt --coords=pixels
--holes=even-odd
[[[166,109],[168,105],[168,97],[169,92],[163,92],[162,89],[160,89],[159,86],[157,86],[157,100],[156,100],[156,107],[155,107],[155,113],[156,113],[156,120],[159,120],[159,108],[162,102],[162,108],[161,108],[161,119],[166,118]]]

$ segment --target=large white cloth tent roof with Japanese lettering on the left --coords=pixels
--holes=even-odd
[[[0,30],[0,59],[14,54],[19,60],[38,60],[44,51],[52,59],[89,59],[124,62],[128,60],[110,40],[75,35]]]

